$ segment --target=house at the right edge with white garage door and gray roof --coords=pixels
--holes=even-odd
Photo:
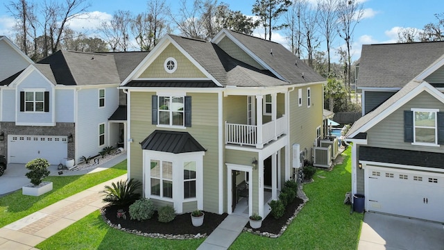
[[[366,211],[444,222],[444,42],[370,47],[370,55],[368,46],[361,55],[358,85],[363,72],[375,72],[375,87],[367,97],[378,99],[380,88],[379,100],[385,101],[345,135],[345,140],[353,142],[352,193],[365,195]],[[382,56],[390,51],[399,54],[391,54],[390,60]],[[366,57],[375,54],[383,58],[367,63]],[[405,60],[406,54],[417,57]],[[428,65],[424,63],[430,60],[427,57],[434,58]],[[376,74],[376,69],[386,70]],[[416,76],[407,80],[404,76],[409,71]],[[370,85],[370,76],[365,79]],[[383,79],[389,88],[400,90],[388,94]],[[386,99],[387,95],[391,97]]]

